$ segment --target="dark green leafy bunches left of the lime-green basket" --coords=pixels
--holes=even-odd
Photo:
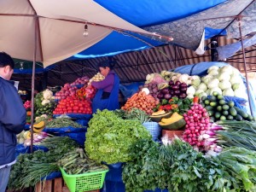
[[[78,148],[78,144],[69,137],[48,137],[41,143],[49,148],[48,152],[42,150],[33,154],[20,154],[17,162],[12,166],[9,177],[9,189],[20,190],[35,186],[49,173],[59,171],[57,161],[64,154]]]

